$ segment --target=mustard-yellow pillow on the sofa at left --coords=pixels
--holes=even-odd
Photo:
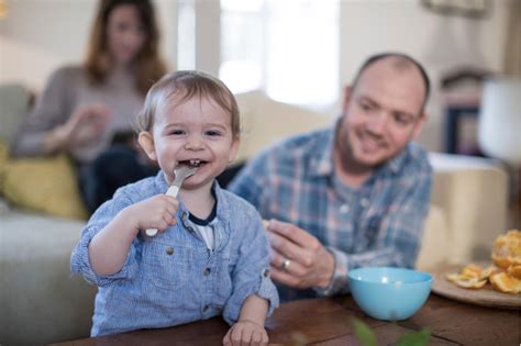
[[[76,170],[67,156],[8,157],[0,142],[0,194],[13,205],[56,216],[87,219]]]

